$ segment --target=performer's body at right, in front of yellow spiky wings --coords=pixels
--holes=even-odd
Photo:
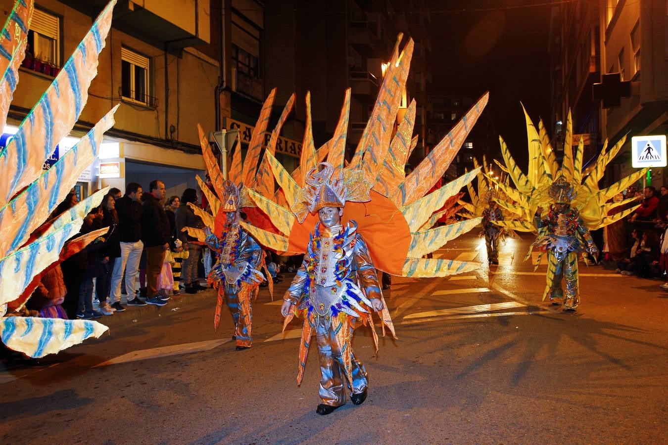
[[[599,250],[594,244],[587,226],[580,218],[578,209],[570,202],[576,196],[574,187],[562,175],[550,185],[548,195],[554,201],[545,217],[542,207],[536,210],[536,226],[546,228],[546,234],[536,240],[548,253],[548,262],[554,267],[554,278],[548,274],[550,301],[553,305],[563,305],[564,311],[574,312],[578,307],[578,254],[587,250],[597,257]],[[584,248],[582,247],[584,245]],[[561,280],[566,282],[566,295]],[[560,302],[562,300],[562,302]]]

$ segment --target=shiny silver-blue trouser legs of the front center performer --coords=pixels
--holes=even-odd
[[[317,320],[315,338],[320,356],[320,398],[322,403],[329,406],[341,406],[346,402],[344,381],[345,368],[341,358],[341,348],[326,318]],[[351,328],[352,330],[352,328]],[[367,371],[363,364],[355,359],[351,353],[352,382],[346,382],[351,392],[359,394],[367,389]]]

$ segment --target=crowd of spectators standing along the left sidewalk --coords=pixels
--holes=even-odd
[[[78,202],[71,191],[49,220]],[[102,235],[41,274],[21,311],[90,320],[124,312],[128,306],[165,306],[180,292],[205,290],[198,266],[200,252],[208,248],[185,230],[202,229],[204,224],[188,204],[207,205],[206,201],[198,203],[198,193],[192,188],[180,197],[166,197],[165,184],[158,179],[148,189],[136,182],[128,183],[124,194],[118,188],[110,189],[100,206],[86,215],[76,237],[96,230]],[[206,258],[214,261],[210,254]],[[205,269],[210,267],[205,264]]]

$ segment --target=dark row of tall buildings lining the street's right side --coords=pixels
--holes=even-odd
[[[668,3],[602,0],[555,6],[548,49],[552,115],[546,125],[558,152],[570,109],[573,142],[585,141],[583,165],[596,159],[605,139],[614,144],[628,135],[604,181],[611,184],[633,172],[631,137],[668,133]],[[619,106],[604,107],[593,99],[593,84],[609,73],[630,83],[630,97],[618,97]],[[652,169],[647,179],[656,187],[668,183],[661,168]]]

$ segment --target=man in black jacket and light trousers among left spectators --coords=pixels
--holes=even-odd
[[[114,297],[112,308],[118,312],[125,310],[121,304],[121,280],[124,271],[126,272],[128,306],[146,306],[146,302],[140,300],[134,294],[139,260],[142,258],[142,250],[144,250],[140,199],[142,199],[142,186],[136,182],[130,182],[126,185],[125,196],[116,201],[121,256],[114,263],[112,274],[112,294]]]

